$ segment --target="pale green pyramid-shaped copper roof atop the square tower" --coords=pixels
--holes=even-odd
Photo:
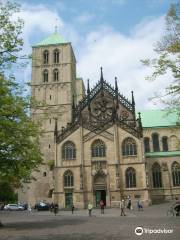
[[[34,47],[38,46],[46,46],[46,45],[56,45],[66,43],[63,37],[61,37],[58,33],[53,33],[46,39],[34,45]]]

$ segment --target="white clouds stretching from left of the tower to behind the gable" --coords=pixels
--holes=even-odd
[[[170,82],[170,76],[161,77],[155,82],[146,81],[145,76],[151,70],[140,62],[140,59],[155,55],[153,45],[162,35],[163,16],[143,20],[132,29],[129,36],[111,26],[97,26],[94,31],[82,36],[74,25],[67,24],[55,10],[42,5],[24,5],[23,9],[18,16],[25,20],[25,51],[31,52],[30,42],[35,39],[34,36],[40,41],[52,33],[58,19],[60,33],[72,42],[74,51],[77,52],[78,75],[83,77],[85,83],[89,78],[91,86],[99,80],[102,66],[104,78],[112,85],[114,77],[118,77],[119,90],[123,95],[130,97],[131,90],[134,90],[136,106],[142,109],[152,108],[153,103],[148,98],[155,91],[161,92]],[[85,18],[84,20],[86,21]],[[30,67],[24,70],[24,79],[30,79]]]

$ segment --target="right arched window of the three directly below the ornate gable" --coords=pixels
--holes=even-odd
[[[122,143],[122,153],[124,156],[137,155],[136,142],[133,138],[126,138]]]

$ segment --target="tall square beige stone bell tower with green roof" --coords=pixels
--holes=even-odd
[[[35,122],[40,122],[40,139],[44,164],[32,173],[36,181],[24,187],[21,201],[35,204],[53,201],[53,165],[55,159],[54,128],[66,127],[72,118],[72,104],[83,96],[83,81],[76,79],[76,59],[70,42],[55,31],[32,47],[31,95],[36,107],[31,109]],[[56,120],[55,120],[56,119]],[[55,123],[56,122],[56,123]]]

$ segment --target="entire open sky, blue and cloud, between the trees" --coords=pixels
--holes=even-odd
[[[127,97],[134,90],[139,109],[159,107],[148,99],[169,84],[167,74],[156,82],[147,82],[151,70],[140,59],[154,57],[154,44],[164,33],[164,17],[171,0],[19,0],[25,21],[24,51],[54,32],[72,43],[77,73],[86,84],[99,80],[103,66],[106,80],[118,85]],[[30,65],[21,72],[24,81],[30,80]]]

